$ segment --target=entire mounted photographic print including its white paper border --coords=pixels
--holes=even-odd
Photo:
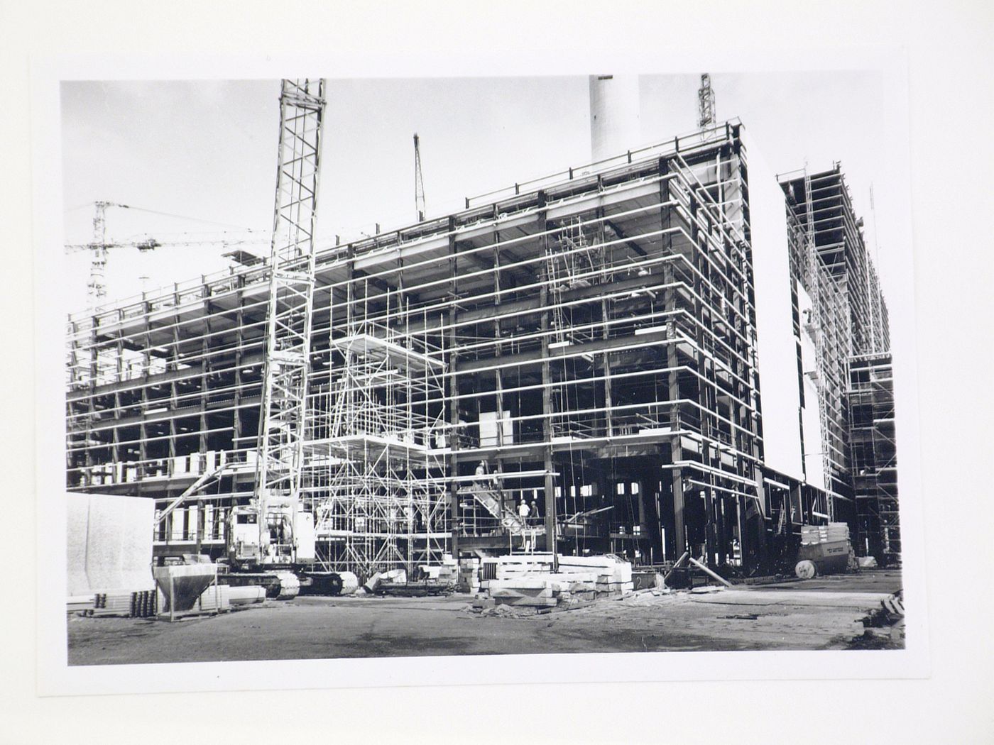
[[[923,486],[985,448],[927,424],[920,66],[378,44],[33,59],[37,695],[366,691],[393,741],[414,686],[531,742],[558,686],[628,742],[647,699],[564,691],[793,682],[823,741],[813,682],[983,657],[932,577],[986,584]]]

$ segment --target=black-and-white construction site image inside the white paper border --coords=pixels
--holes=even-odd
[[[70,665],[903,648],[882,85],[64,82]]]

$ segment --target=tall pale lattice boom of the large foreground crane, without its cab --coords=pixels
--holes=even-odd
[[[279,97],[279,156],[254,489],[261,557],[269,544],[268,505],[277,498],[295,503],[300,489],[324,91],[323,79],[284,79]]]

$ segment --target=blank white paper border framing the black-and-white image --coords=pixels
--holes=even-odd
[[[38,592],[38,691],[43,695],[136,693],[191,690],[264,690],[278,688],[368,687],[395,685],[468,685],[488,683],[621,682],[643,680],[765,680],[924,677],[929,673],[927,605],[924,583],[914,293],[911,251],[911,194],[897,196],[907,215],[895,218],[895,233],[907,246],[900,274],[889,275],[895,355],[895,398],[899,432],[900,493],[907,647],[888,651],[611,653],[481,656],[444,658],[374,658],[301,660],[264,663],[227,662],[70,667],[66,650],[65,608],[65,410],[63,335],[65,315],[47,293],[46,267],[62,259],[62,174],[59,83],[65,79],[217,79],[279,78],[293,72],[334,71],[341,77],[501,76],[590,74],[592,65],[620,73],[694,73],[705,66],[715,72],[775,73],[782,50],[755,54],[743,50],[713,54],[685,51],[598,54],[555,59],[481,52],[435,55],[176,56],[133,55],[37,58],[31,69],[31,119],[34,195],[35,339],[37,463],[36,535]],[[895,131],[908,146],[908,79],[900,49],[847,50],[844,60],[832,50],[790,56],[791,70],[879,70],[888,100],[905,126]],[[900,113],[898,113],[900,112]],[[747,122],[745,122],[747,126]],[[761,148],[761,143],[759,143]],[[907,164],[904,166],[907,168]],[[56,193],[59,197],[46,197]],[[897,265],[897,263],[895,264]],[[53,457],[53,453],[56,457]],[[812,674],[817,671],[817,674]],[[285,680],[292,682],[286,683]],[[267,682],[267,681],[276,681]]]

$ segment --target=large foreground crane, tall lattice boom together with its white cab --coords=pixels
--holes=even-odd
[[[273,570],[289,570],[314,559],[313,519],[301,507],[299,490],[307,424],[324,90],[323,79],[284,79],[281,84],[255,486],[251,504],[234,508],[229,519],[233,566],[268,576]],[[277,576],[279,596],[295,595],[295,575],[283,571]]]

